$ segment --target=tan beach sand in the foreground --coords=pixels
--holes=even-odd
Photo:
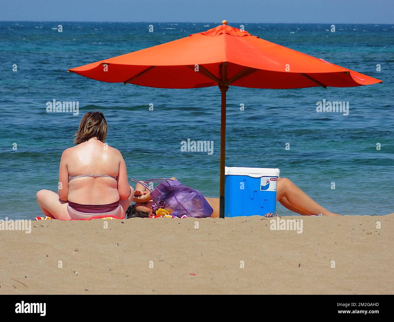
[[[394,294],[394,213],[280,219],[303,232],[258,216],[32,221],[0,231],[0,294]]]

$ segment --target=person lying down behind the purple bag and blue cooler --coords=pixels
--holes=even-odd
[[[177,180],[177,178],[174,177],[171,179]],[[204,198],[214,210],[211,217],[219,217],[219,198]],[[127,218],[146,218],[152,215],[151,205],[153,201],[151,194],[149,190],[140,183],[136,184],[133,201],[136,203],[130,205],[126,210]],[[278,178],[276,201],[279,201],[284,207],[292,212],[299,213],[303,216],[318,215],[320,213],[324,216],[340,216],[337,213],[329,212],[318,203],[314,202],[288,178]]]

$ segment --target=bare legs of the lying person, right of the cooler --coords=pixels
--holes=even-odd
[[[322,213],[325,216],[339,216],[337,213],[329,212],[317,202],[314,202],[312,198],[310,198],[288,178],[278,178],[276,199],[282,203],[281,199],[283,197],[286,199],[283,200],[285,203],[284,206],[286,208],[288,208],[286,205],[291,206],[298,210],[299,212],[297,213],[300,213],[301,215],[303,213],[305,213],[305,215],[318,215],[319,213]]]

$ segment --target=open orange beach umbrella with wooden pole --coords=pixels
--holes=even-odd
[[[382,83],[323,59],[227,26],[150,48],[71,68],[110,83],[158,88],[219,86],[221,91],[220,217],[224,217],[226,92],[251,88],[351,87]]]

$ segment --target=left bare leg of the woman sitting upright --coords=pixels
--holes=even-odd
[[[57,193],[50,190],[40,190],[36,197],[44,215],[60,220],[71,219],[67,212],[68,202],[60,200]]]

